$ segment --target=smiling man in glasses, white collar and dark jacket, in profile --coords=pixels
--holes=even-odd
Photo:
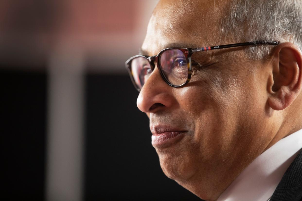
[[[162,0],[126,62],[163,172],[201,199],[302,197],[301,4]]]

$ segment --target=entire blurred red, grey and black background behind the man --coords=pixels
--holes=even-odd
[[[162,173],[124,67],[156,3],[0,1],[1,200],[198,200]]]

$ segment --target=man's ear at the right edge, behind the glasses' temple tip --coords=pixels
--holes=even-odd
[[[273,49],[272,57],[268,104],[274,110],[283,110],[300,93],[302,55],[297,46],[285,42]]]

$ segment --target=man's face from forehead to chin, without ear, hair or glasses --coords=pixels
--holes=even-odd
[[[219,13],[226,2],[159,2],[142,50],[153,56],[177,44],[247,42],[223,39]],[[215,188],[218,181],[235,178],[232,172],[246,167],[271,140],[263,117],[265,64],[247,59],[243,49],[194,53],[191,81],[180,88],[165,83],[155,68],[138,96],[162,170],[183,186],[196,180]]]

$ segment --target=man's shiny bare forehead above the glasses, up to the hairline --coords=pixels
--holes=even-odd
[[[229,1],[160,1],[150,18],[143,52],[156,55],[169,44],[178,43],[191,45],[187,47],[217,45],[226,2]]]

